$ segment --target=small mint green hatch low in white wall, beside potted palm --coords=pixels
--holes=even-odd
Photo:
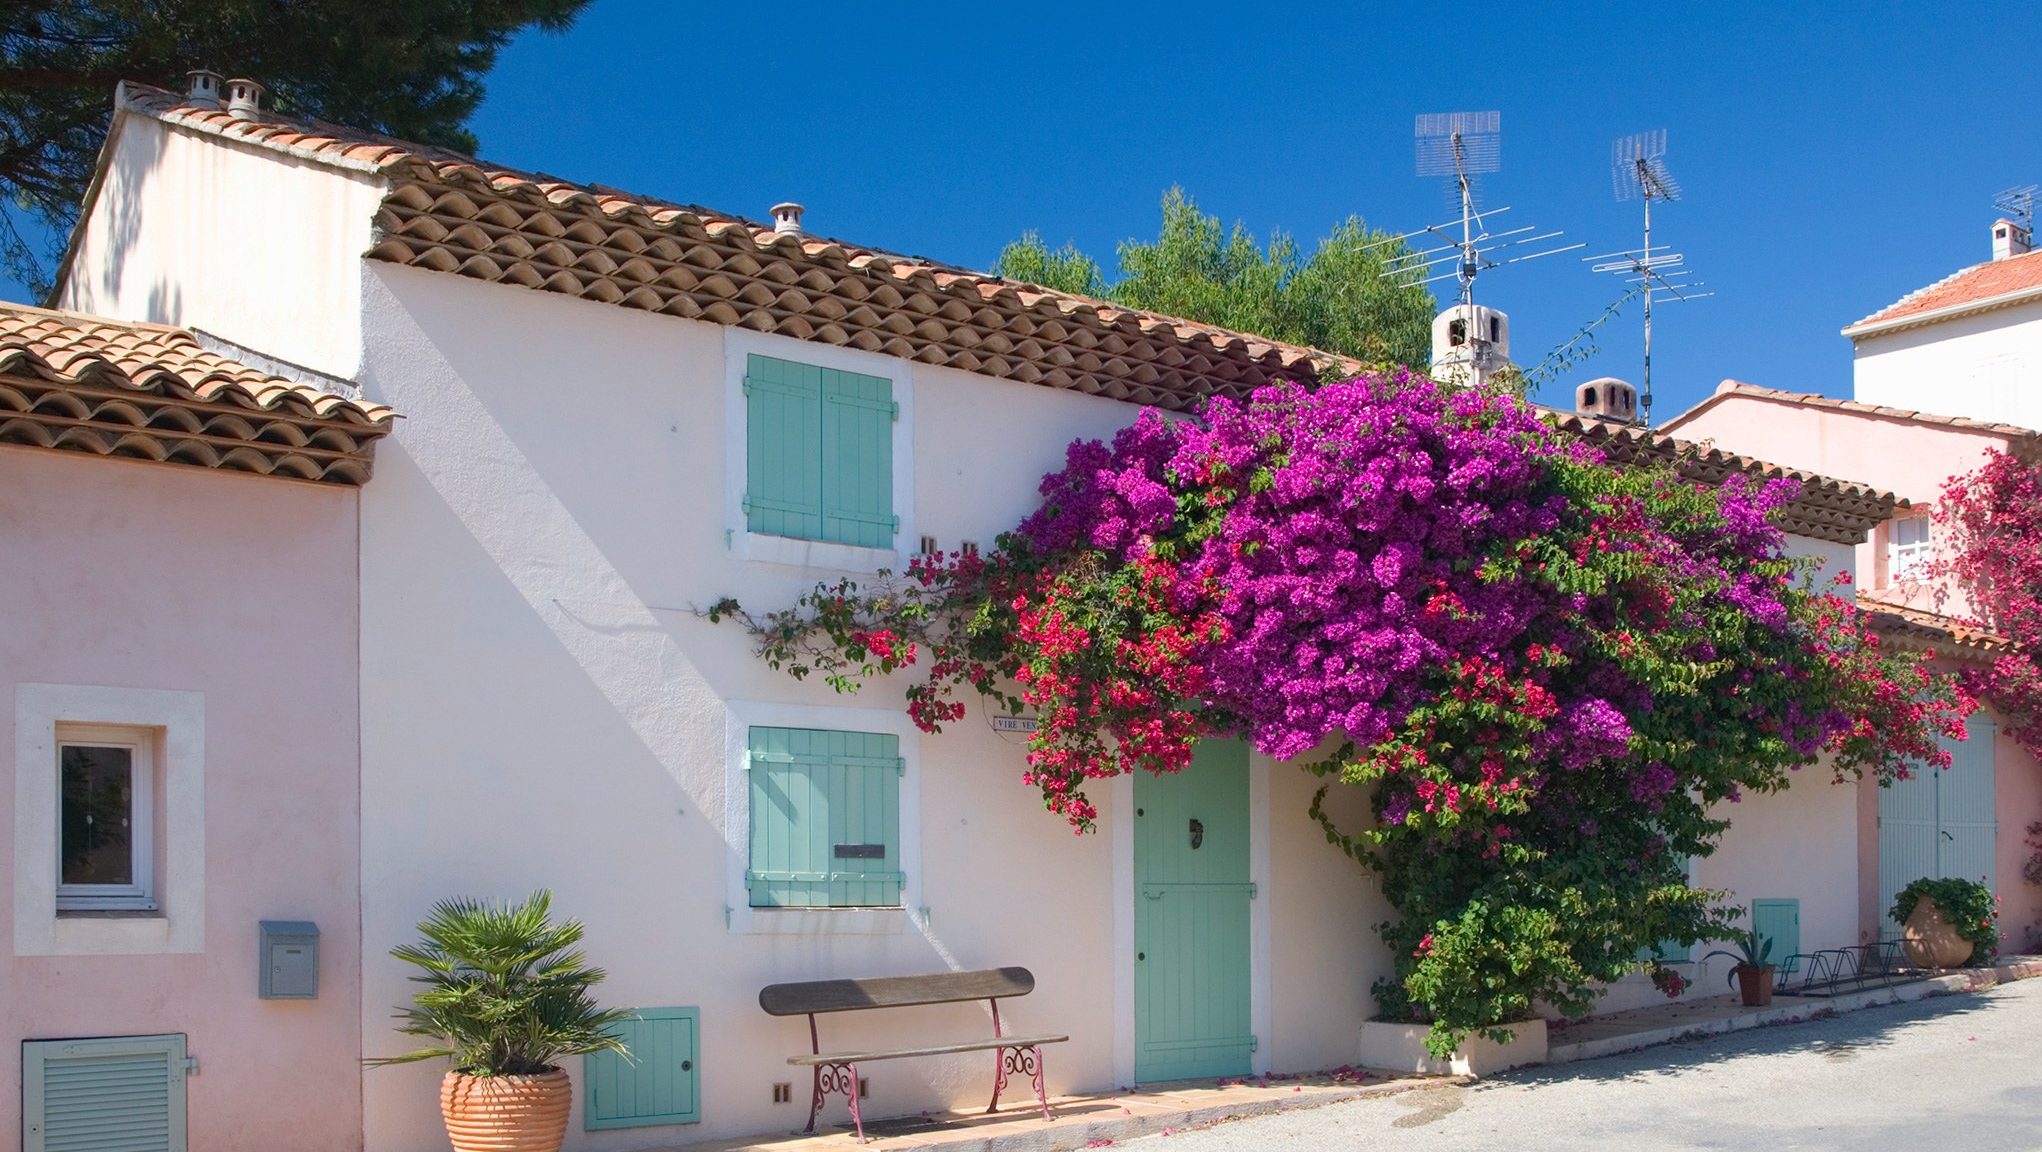
[[[696,1123],[700,1105],[700,1015],[692,1007],[637,1009],[611,1029],[631,1058],[582,1058],[582,1127]]]

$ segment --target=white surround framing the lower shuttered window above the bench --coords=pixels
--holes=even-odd
[[[925,923],[921,907],[921,731],[901,709],[833,709],[776,701],[729,701],[723,713],[723,907],[733,935],[903,935]],[[901,737],[901,907],[756,909],[751,870],[751,782],[745,760],[753,727],[882,731]]]

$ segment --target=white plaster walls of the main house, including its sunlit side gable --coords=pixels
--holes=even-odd
[[[796,1127],[807,1093],[786,1056],[807,1036],[756,1005],[776,980],[1021,964],[1037,993],[1009,1005],[1013,1025],[1072,1034],[1048,1050],[1050,1091],[1131,1083],[1129,786],[1097,788],[1101,833],[1074,837],[1019,782],[1019,739],[980,713],[919,735],[903,725],[903,684],[837,697],[794,682],[756,660],[741,629],[692,609],[725,594],[780,607],[819,580],[905,560],[745,537],[731,429],[733,366],[747,351],[894,382],[903,547],[990,541],[1035,507],[1072,439],[1111,435],[1137,409],[366,261],[378,196],[357,172],[125,116],[63,284],[69,306],[202,327],[353,378],[404,413],[361,494],[366,1054],[406,1046],[390,1009],[410,985],[386,952],[412,940],[433,901],[547,886],[586,921],[588,952],[611,972],[606,1001],[700,1009],[700,1125],[582,1132],[576,1117],[570,1148]],[[257,231],[265,251],[233,239]],[[233,257],[194,255],[208,251]],[[253,288],[251,270],[265,270]],[[1848,547],[1836,551],[1848,562]],[[823,717],[903,737],[913,831],[898,913],[745,907],[735,733]],[[1352,1062],[1368,987],[1391,968],[1372,931],[1389,907],[1307,819],[1315,788],[1295,766],[1252,762],[1256,1068]],[[1854,915],[1854,805],[1840,795],[1824,780],[1746,799],[1770,815],[1740,823],[1734,842],[1750,837],[1748,850],[1705,862],[1701,880]],[[1350,827],[1366,815],[1358,795],[1333,809]],[[1856,940],[1832,935],[1828,917],[1803,921],[1805,946]],[[825,1019],[823,1031],[911,1042],[970,1034],[978,1017],[962,1005]],[[868,1066],[868,1111],[978,1101],[988,1062]],[[437,1076],[366,1076],[370,1152],[443,1146]],[[772,1103],[788,1081],[794,1103]]]

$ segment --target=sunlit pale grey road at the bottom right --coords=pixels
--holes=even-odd
[[[2042,1150],[2042,980],[1135,1144],[1154,1152]]]

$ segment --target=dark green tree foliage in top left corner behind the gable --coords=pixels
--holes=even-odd
[[[4,259],[35,288],[63,235],[120,80],[182,88],[194,67],[249,76],[278,112],[474,151],[461,127],[496,51],[527,27],[566,29],[588,0],[20,0],[0,14]]]

